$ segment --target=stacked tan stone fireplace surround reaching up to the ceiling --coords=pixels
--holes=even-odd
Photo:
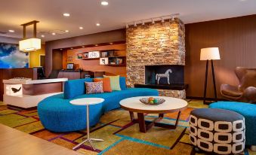
[[[184,23],[177,18],[164,23],[130,26],[126,29],[126,41],[127,84],[130,87],[147,84],[146,71],[150,68],[148,66],[185,65],[185,27]],[[170,76],[174,74],[171,73]],[[157,89],[160,96],[186,98],[185,87]]]

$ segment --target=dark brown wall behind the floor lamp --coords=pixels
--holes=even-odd
[[[200,49],[219,47],[221,60],[214,61],[217,94],[221,84],[237,85],[236,66],[256,68],[256,15],[191,23],[186,28],[185,82],[187,96],[202,97],[205,81],[205,61],[200,61]],[[211,70],[208,74],[208,97],[213,97]],[[256,79],[255,79],[256,80]]]

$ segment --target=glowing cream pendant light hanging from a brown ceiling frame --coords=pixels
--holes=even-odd
[[[23,23],[23,40],[19,41],[19,48],[23,52],[41,49],[41,39],[36,38],[36,23],[39,21],[33,20],[29,23]],[[33,25],[33,38],[26,38],[26,26]]]

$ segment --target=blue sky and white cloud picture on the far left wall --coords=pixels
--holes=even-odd
[[[17,44],[0,43],[0,68],[29,68],[29,53],[21,52]]]

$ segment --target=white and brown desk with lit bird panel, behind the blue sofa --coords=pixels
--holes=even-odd
[[[67,80],[67,78],[3,80],[4,103],[20,108],[36,107],[42,99],[63,93],[63,83]]]

